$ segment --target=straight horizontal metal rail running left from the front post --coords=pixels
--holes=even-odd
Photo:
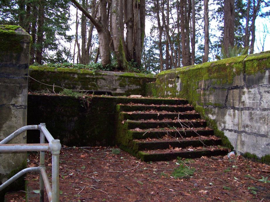
[[[50,151],[49,144],[0,144],[0,152]]]

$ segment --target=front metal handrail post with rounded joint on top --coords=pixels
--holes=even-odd
[[[59,139],[54,139],[50,143],[52,152],[52,202],[59,201],[59,154],[61,144]]]

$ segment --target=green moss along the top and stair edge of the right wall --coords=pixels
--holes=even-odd
[[[270,51],[227,58],[215,62],[192,65],[183,68],[167,70],[157,75],[155,83],[146,85],[146,92],[152,96],[186,98],[196,111],[205,118],[215,131],[215,135],[222,139],[224,146],[233,149],[224,133],[218,130],[217,124],[206,116],[201,101],[200,82],[211,80],[215,86],[230,85],[235,76],[240,74],[255,74],[270,68]],[[179,83],[176,81],[179,78]]]

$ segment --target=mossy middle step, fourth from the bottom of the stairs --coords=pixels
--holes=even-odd
[[[134,129],[134,128],[139,128],[139,129],[148,129],[148,128],[180,128],[180,127],[189,127],[189,128],[194,128],[194,127],[206,127],[206,122],[204,120],[181,120],[180,122],[178,121],[173,121],[173,120],[168,120],[168,121],[163,121],[163,120],[145,120],[145,121],[136,121],[136,120],[127,120],[124,121],[124,125],[127,127],[127,129]]]

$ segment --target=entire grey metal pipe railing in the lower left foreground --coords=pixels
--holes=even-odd
[[[13,138],[26,130],[40,130],[40,144],[6,144]],[[45,137],[49,144],[45,144]],[[59,201],[59,154],[61,150],[60,140],[54,139],[46,128],[45,123],[40,125],[28,125],[16,130],[8,137],[0,142],[0,152],[13,151],[40,151],[40,166],[33,168],[26,168],[21,170],[16,175],[8,179],[0,185],[0,191],[6,188],[9,184],[21,177],[27,172],[40,172],[40,202],[44,201],[44,187],[46,187],[47,196],[50,202]],[[45,171],[45,153],[44,151],[51,151],[52,153],[52,187],[50,186],[46,171]]]

